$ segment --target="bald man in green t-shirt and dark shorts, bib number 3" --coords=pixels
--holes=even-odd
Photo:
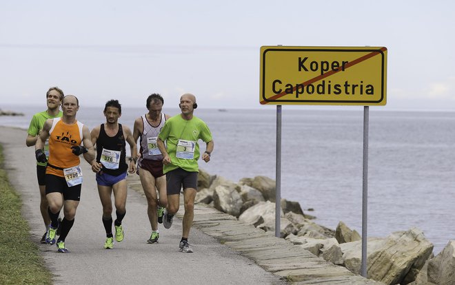
[[[201,158],[210,161],[214,142],[212,133],[207,124],[193,115],[197,108],[196,96],[183,94],[179,107],[181,114],[166,121],[156,140],[161,154],[163,154],[163,173],[166,174],[168,191],[168,207],[163,217],[163,225],[169,229],[174,214],[179,211],[180,190],[183,188],[183,232],[179,249],[183,253],[192,253],[188,244],[188,235],[194,218],[194,198],[197,191],[197,177],[199,165],[197,160],[201,156],[198,140],[205,142],[205,151]]]

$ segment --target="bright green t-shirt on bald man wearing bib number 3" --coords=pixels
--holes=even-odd
[[[212,140],[212,133],[208,126],[195,116],[185,120],[181,114],[166,120],[159,136],[166,142],[168,154],[171,159],[169,165],[163,166],[163,173],[181,168],[190,172],[199,172],[197,160],[199,159],[199,139],[203,142]]]

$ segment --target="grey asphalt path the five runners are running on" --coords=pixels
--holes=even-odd
[[[44,226],[34,147],[26,147],[25,130],[0,127],[0,134],[8,177],[21,194],[22,213],[30,224],[32,240],[39,244]],[[115,242],[112,250],[103,249],[105,232],[97,184],[88,163],[81,159],[81,165],[81,202],[65,240],[70,253],[57,253],[57,246],[39,244],[55,275],[54,284],[283,284],[276,275],[197,229],[192,229],[189,238],[194,253],[181,253],[182,226],[176,217],[171,229],[159,224],[158,244],[148,244],[147,204],[143,195],[132,189],[128,189],[123,220],[125,240]]]

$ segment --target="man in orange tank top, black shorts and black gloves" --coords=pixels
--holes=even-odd
[[[45,169],[45,193],[48,200],[50,228],[45,236],[48,244],[56,241],[59,227],[59,213],[63,208],[64,218],[61,222],[57,251],[68,253],[65,238],[74,224],[74,216],[81,198],[82,170],[79,156],[83,154],[90,164],[95,152],[87,126],[76,120],[79,100],[74,95],[63,97],[61,118],[50,118],[45,121],[43,130],[35,144],[35,156],[38,162],[48,165]],[[43,152],[44,142],[49,139],[49,159]]]

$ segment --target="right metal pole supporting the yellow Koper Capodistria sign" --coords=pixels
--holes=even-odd
[[[369,107],[363,107],[363,192],[362,192],[362,265],[361,275],[367,277],[367,211],[368,211],[368,125]]]

